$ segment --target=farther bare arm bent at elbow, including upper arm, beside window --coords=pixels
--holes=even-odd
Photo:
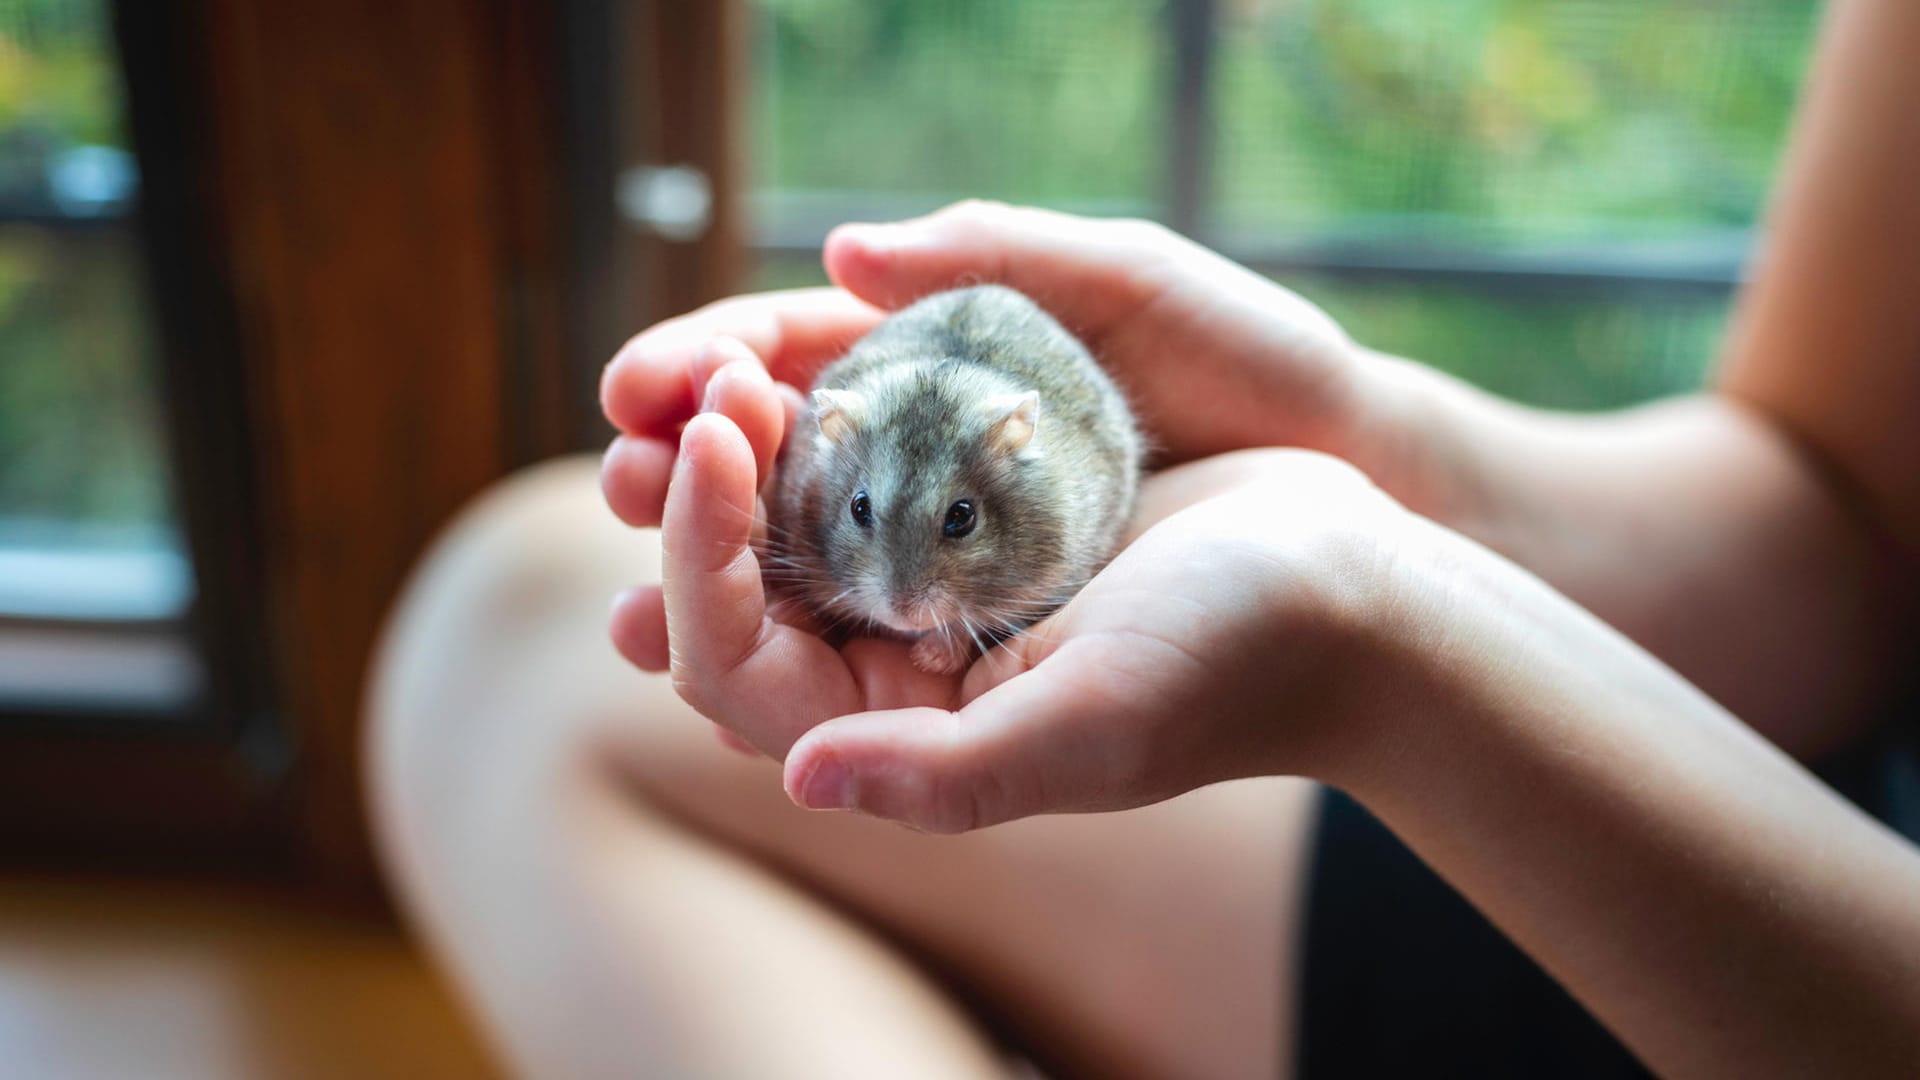
[[[1830,6],[1715,396],[1557,417],[1371,365],[1390,492],[1799,755],[1870,723],[1914,642],[1916,44],[1920,6]]]

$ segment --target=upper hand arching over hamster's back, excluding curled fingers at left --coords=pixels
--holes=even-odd
[[[1342,452],[1361,356],[1319,307],[1146,221],[964,202],[828,236],[835,284],[902,307],[1010,284],[1079,334],[1127,390],[1165,461],[1252,446]]]

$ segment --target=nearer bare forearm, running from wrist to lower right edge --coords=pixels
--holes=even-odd
[[[1914,1074],[1920,855],[1469,553],[1450,596],[1405,613],[1427,632],[1404,638],[1419,655],[1382,701],[1392,734],[1334,780],[1655,1070]]]

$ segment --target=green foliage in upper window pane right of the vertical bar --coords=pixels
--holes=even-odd
[[[1221,217],[1480,242],[1749,225],[1805,0],[1223,4]]]

